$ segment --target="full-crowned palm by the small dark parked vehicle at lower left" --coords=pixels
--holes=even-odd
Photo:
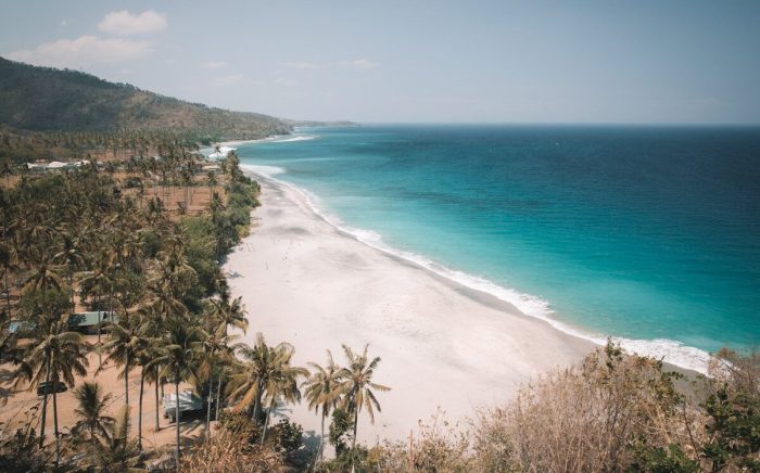
[[[40,444],[45,438],[46,409],[48,402],[48,392],[53,393],[53,426],[55,433],[55,461],[60,457],[59,429],[58,429],[58,385],[65,383],[68,387],[74,386],[74,375],[84,376],[87,374],[87,351],[89,344],[85,342],[81,334],[68,332],[66,324],[62,320],[47,320],[37,335],[35,342],[29,346],[24,365],[25,371],[18,371],[22,375],[28,374],[31,387],[39,386],[45,381],[47,388],[42,398],[42,424]],[[18,378],[22,380],[22,378]]]

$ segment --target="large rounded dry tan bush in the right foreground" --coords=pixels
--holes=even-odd
[[[557,371],[523,388],[505,426],[521,470],[620,471],[642,438],[694,452],[697,419],[684,408],[681,375],[653,358],[631,357],[608,344],[581,367]]]

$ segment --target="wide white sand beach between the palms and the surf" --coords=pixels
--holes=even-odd
[[[510,398],[530,376],[575,362],[592,344],[527,317],[514,306],[340,233],[302,193],[257,177],[263,206],[252,235],[225,270],[242,296],[250,329],[295,346],[295,363],[343,362],[341,344],[382,361],[375,381],[382,413],[359,418],[359,440],[401,439],[440,406],[449,419]],[[291,412],[288,412],[291,410]],[[286,409],[304,432],[319,433],[306,404]]]

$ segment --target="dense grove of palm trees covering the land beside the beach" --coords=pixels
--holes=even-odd
[[[333,409],[352,412],[355,438],[359,412],[372,417],[380,409],[375,392],[388,391],[372,381],[379,358],[366,348],[356,353],[344,346],[345,367],[330,358],[326,369],[314,363],[312,375],[292,365],[294,347],[288,343],[269,345],[261,334],[253,346],[237,342],[249,329],[245,308],[230,296],[218,261],[249,231],[250,212],[258,205],[258,187],[242,174],[237,156],[221,161],[218,175],[204,174],[197,146],[180,139],[141,136],[143,151],[160,158],[119,158],[121,151],[128,151],[102,143],[125,143],[128,133],[94,140],[62,137],[46,137],[42,148],[76,153],[72,150],[99,142],[106,149],[100,151],[113,152],[102,163],[91,148],[80,156],[89,158],[87,166],[55,172],[31,172],[12,153],[4,159],[0,355],[5,409],[15,392],[43,388],[38,405],[14,412],[24,422],[4,423],[0,468],[119,470],[151,461],[166,466],[161,451],[142,445],[142,409],[151,385],[156,429],[160,391],[166,386],[179,397],[180,384],[186,384],[205,399],[205,438],[213,435],[208,424],[220,421],[233,430],[248,429],[254,444],[267,451],[289,437],[282,453],[288,457],[302,447],[301,427],[288,421],[270,425],[270,413],[278,405],[300,401],[304,388],[322,418]],[[26,142],[14,137],[5,145]],[[199,215],[187,212],[193,188],[208,188]],[[183,201],[167,208],[173,189],[181,189]],[[88,341],[68,323],[76,308],[114,317],[102,323],[97,340]],[[105,366],[118,367],[123,396],[97,382]],[[96,381],[84,380],[93,368]],[[138,399],[129,398],[130,375],[139,378]],[[59,423],[59,389],[45,388],[59,383],[74,389],[78,407],[73,425]],[[114,411],[116,405],[122,407]],[[181,446],[176,406],[172,465],[179,461]],[[130,409],[139,411],[137,426],[130,425]],[[46,432],[49,417],[52,433]],[[313,464],[322,450],[320,446],[299,461]],[[86,455],[77,455],[81,451]]]

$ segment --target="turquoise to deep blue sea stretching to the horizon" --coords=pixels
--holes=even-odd
[[[760,129],[315,128],[238,154],[562,330],[692,368],[760,342]]]

